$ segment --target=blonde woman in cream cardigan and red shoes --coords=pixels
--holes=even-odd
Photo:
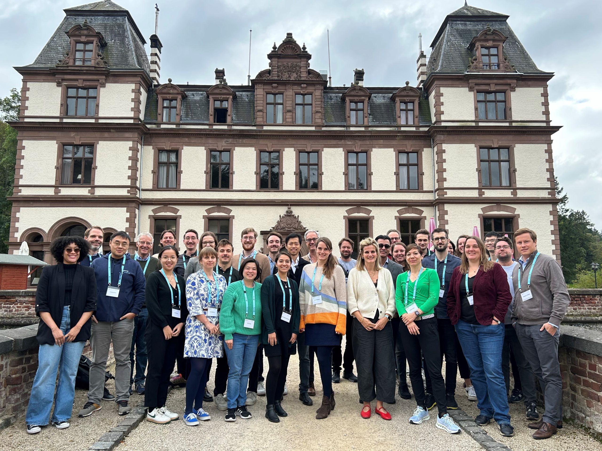
[[[370,418],[370,402],[376,398],[374,412],[384,420],[391,419],[383,402],[395,402],[394,292],[391,272],[379,264],[376,241],[362,239],[358,262],[347,280],[347,308],[358,320],[353,321],[352,335],[359,397],[364,401],[362,418]]]

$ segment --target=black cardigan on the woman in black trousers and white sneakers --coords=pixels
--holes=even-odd
[[[173,273],[176,277],[176,282],[180,286],[180,321],[186,322],[188,316],[188,304],[186,302],[186,283],[184,277],[179,274]],[[174,299],[178,298],[178,287],[173,288]],[[146,299],[146,308],[149,312],[149,320],[153,325],[163,329],[167,325],[167,318],[172,316],[172,292],[170,287],[167,285],[167,280],[161,271],[154,271],[149,275],[146,281],[146,292],[144,293]]]

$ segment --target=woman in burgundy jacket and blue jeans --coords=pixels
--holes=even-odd
[[[512,300],[506,271],[488,260],[485,244],[478,236],[464,243],[462,263],[453,270],[447,293],[447,314],[456,327],[470,378],[477,394],[483,426],[495,419],[500,434],[512,437],[506,383],[501,370],[504,317]]]

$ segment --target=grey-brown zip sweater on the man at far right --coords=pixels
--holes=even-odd
[[[566,308],[571,298],[566,289],[562,269],[554,257],[539,254],[533,273],[531,275],[531,293],[533,298],[523,301],[518,291],[518,269],[521,268],[521,289],[523,293],[529,289],[527,280],[533,265],[535,253],[529,257],[524,269],[519,263],[512,272],[514,284],[514,308],[512,309],[512,323],[524,325],[543,325],[550,322],[560,326],[564,319]]]

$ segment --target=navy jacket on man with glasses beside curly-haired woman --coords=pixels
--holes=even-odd
[[[120,321],[126,313],[140,313],[144,304],[144,289],[146,279],[140,268],[140,263],[125,254],[125,268],[119,289],[119,297],[107,296],[108,287],[108,259],[111,254],[96,259],[90,265],[94,268],[96,275],[96,286],[98,287],[98,304],[96,307],[96,319],[98,321]],[[123,257],[122,257],[123,258]],[[116,287],[121,272],[121,262],[111,261],[111,285]]]

